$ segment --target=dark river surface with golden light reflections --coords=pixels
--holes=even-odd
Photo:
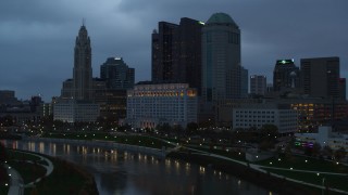
[[[108,194],[268,194],[209,167],[117,150],[60,143],[2,141],[8,147],[45,153],[83,166]]]

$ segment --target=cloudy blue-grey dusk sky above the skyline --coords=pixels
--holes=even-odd
[[[216,12],[241,31],[241,65],[272,82],[275,61],[340,57],[348,77],[347,0],[1,0],[0,90],[20,100],[59,96],[73,76],[75,39],[85,18],[94,77],[108,57],[122,56],[136,81],[151,79],[151,32],[158,22],[206,22]]]

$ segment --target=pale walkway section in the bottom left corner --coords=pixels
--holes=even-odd
[[[22,195],[24,194],[23,179],[21,174],[8,164],[4,164],[4,168],[8,170],[8,173],[11,178],[9,195]]]

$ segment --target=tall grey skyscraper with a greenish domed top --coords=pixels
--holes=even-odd
[[[202,99],[239,99],[240,30],[225,13],[213,14],[202,28]]]

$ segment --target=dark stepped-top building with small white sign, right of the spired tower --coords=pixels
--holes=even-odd
[[[134,86],[134,68],[129,68],[122,57],[109,57],[100,66],[100,78],[112,90],[127,90]]]

